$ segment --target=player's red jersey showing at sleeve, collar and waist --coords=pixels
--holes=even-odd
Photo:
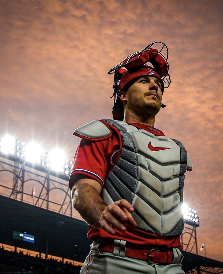
[[[138,129],[144,129],[154,135],[165,136],[162,131],[153,127],[140,124],[130,123]],[[107,125],[112,130],[113,134],[100,141],[90,141],[82,139],[76,151],[73,161],[73,169],[69,178],[69,188],[71,189],[76,182],[76,175],[82,174],[86,178],[96,180],[103,188],[106,176],[113,169],[120,153],[120,138],[114,128]],[[75,133],[74,133],[75,135]],[[180,236],[163,237],[153,233],[146,232],[141,229],[128,227],[125,232],[115,229],[116,234],[111,235],[105,230],[89,226],[88,238],[93,239],[122,239],[127,242],[137,244],[140,246],[152,246],[163,248],[178,248],[182,249],[180,243]]]

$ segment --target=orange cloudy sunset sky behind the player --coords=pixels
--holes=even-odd
[[[223,261],[222,10],[221,0],[0,0],[0,138],[73,159],[73,130],[112,118],[107,72],[165,42],[172,82],[155,127],[185,145],[194,169],[184,201],[198,210],[198,247],[205,241],[207,256]]]

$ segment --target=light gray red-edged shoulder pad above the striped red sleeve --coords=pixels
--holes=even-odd
[[[112,132],[110,129],[101,121],[94,120],[86,125],[75,129],[73,135],[84,139],[106,139]]]

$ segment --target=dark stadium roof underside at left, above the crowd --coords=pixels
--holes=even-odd
[[[0,242],[83,262],[91,241],[88,225],[59,213],[0,195]],[[12,232],[35,236],[35,243],[12,238]]]

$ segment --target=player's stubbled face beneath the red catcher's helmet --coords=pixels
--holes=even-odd
[[[161,80],[142,76],[126,92],[126,108],[137,115],[156,115],[161,108]]]

